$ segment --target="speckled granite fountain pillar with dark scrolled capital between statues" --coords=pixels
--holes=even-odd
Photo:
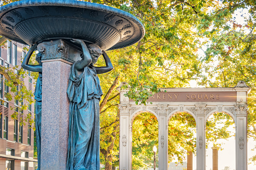
[[[66,169],[68,147],[68,107],[66,94],[70,65],[70,46],[62,40],[44,42],[37,49],[43,53],[41,170]]]

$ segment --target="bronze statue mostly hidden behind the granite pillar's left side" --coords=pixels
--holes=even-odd
[[[41,165],[41,117],[42,117],[42,53],[38,53],[36,55],[36,61],[39,63],[39,65],[30,65],[29,59],[33,52],[36,50],[36,44],[32,45],[29,49],[27,55],[25,56],[22,67],[26,70],[38,72],[39,76],[36,82],[35,87],[35,100],[36,100],[36,146],[37,146],[37,160],[38,160],[38,170],[40,170]]]

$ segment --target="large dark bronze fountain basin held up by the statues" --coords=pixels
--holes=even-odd
[[[0,8],[0,24],[0,35],[22,44],[77,38],[103,50],[130,46],[145,33],[131,14],[81,1],[18,1]]]

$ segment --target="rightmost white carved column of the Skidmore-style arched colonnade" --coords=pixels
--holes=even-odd
[[[236,105],[236,169],[247,169],[247,105]]]

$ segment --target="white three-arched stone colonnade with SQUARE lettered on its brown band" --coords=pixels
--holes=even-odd
[[[152,104],[136,105],[120,91],[120,151],[119,168],[131,170],[131,130],[132,118],[138,112],[151,112],[158,119],[158,155],[159,170],[167,170],[168,119],[175,112],[188,112],[196,120],[197,126],[197,169],[206,168],[205,123],[213,112],[226,112],[235,120],[236,131],[236,169],[247,169],[247,94],[250,91],[243,81],[231,88],[160,88],[151,96]]]

